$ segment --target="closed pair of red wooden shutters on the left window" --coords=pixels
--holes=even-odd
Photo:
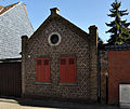
[[[37,81],[50,82],[50,60],[49,58],[37,59]]]

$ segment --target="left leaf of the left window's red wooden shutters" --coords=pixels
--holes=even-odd
[[[36,64],[36,69],[37,69],[37,81],[42,81],[42,58],[38,58],[37,59],[37,64]]]

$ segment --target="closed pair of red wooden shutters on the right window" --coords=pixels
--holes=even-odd
[[[65,63],[64,63],[65,62]],[[76,58],[61,57],[60,60],[60,82],[76,82]]]

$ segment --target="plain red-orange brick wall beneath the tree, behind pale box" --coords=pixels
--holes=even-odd
[[[119,100],[119,83],[130,83],[130,50],[108,52],[108,101]]]

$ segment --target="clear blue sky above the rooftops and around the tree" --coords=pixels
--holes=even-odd
[[[109,35],[105,33],[108,30],[105,23],[113,21],[107,16],[110,4],[114,0],[21,0],[27,6],[29,19],[35,30],[50,15],[50,9],[58,8],[60,14],[88,32],[91,25],[99,28],[99,37],[103,41],[108,40]],[[130,0],[121,1],[120,10],[128,10],[130,13]],[[0,5],[9,5],[20,2],[20,0],[0,0]],[[130,22],[130,14],[122,17]]]

